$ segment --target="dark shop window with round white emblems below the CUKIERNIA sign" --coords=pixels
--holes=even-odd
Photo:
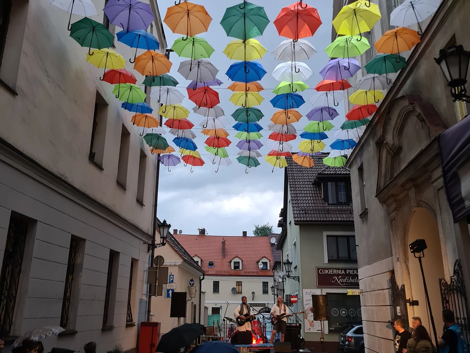
[[[362,313],[358,295],[327,293],[329,306],[329,331],[342,332],[349,325],[361,324]]]

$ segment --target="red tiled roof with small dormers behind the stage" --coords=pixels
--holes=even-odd
[[[271,276],[273,255],[268,236],[219,236],[219,235],[184,235],[174,237],[191,256],[201,259],[201,267],[208,276]],[[222,241],[225,240],[225,257],[222,257]],[[242,269],[232,270],[230,261],[242,259]],[[258,261],[269,260],[267,270],[260,270]],[[208,262],[214,261],[214,267]]]

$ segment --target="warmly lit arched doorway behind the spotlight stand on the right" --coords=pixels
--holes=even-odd
[[[438,336],[442,333],[442,304],[439,291],[439,278],[444,278],[444,265],[442,261],[442,250],[439,239],[439,228],[437,220],[424,207],[415,208],[412,211],[408,228],[408,243],[416,239],[424,239],[428,248],[424,251],[423,270],[426,285],[431,302],[432,315],[436,324]],[[431,320],[424,296],[423,276],[419,267],[418,259],[408,250],[408,265],[411,280],[411,294],[413,300],[419,300],[419,305],[414,306],[415,316],[421,317],[423,326],[428,329],[432,336]],[[411,316],[409,317],[411,324]]]

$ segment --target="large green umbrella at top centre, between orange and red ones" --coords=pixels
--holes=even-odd
[[[262,35],[268,23],[264,8],[246,1],[227,8],[220,21],[228,37],[242,40]]]

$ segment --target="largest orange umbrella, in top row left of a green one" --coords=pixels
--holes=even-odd
[[[176,2],[175,2],[176,4]],[[163,22],[173,33],[186,35],[186,38],[206,32],[212,18],[202,5],[184,1],[169,7]]]

